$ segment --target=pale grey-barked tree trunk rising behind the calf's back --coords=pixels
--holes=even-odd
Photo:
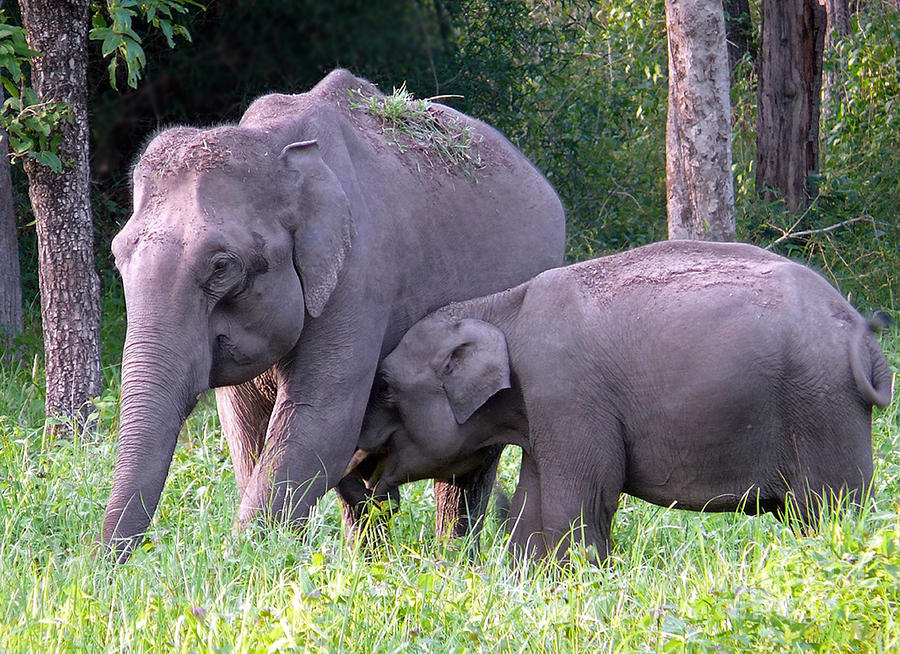
[[[734,240],[731,102],[721,0],[666,0],[669,238]]]

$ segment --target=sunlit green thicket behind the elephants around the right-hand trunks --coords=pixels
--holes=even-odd
[[[444,6],[455,40],[436,58],[437,78],[452,80],[439,90],[464,96],[466,111],[501,129],[544,171],[567,209],[569,259],[665,238],[663,3]],[[817,268],[859,306],[896,308],[900,22],[881,5],[859,12],[852,36],[826,61],[846,62],[847,81],[823,122],[821,173],[801,216],[757,195],[755,61],[748,56],[735,71],[738,233]]]

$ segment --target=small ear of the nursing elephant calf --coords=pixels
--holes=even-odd
[[[494,325],[466,318],[450,327],[438,376],[460,425],[495,393],[509,388],[506,337]]]

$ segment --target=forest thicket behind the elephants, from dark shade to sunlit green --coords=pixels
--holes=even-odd
[[[855,5],[850,34],[826,53],[846,68],[823,107],[814,201],[801,215],[759,199],[754,183],[756,31],[732,75],[739,240],[766,246],[785,232],[854,218],[846,229],[775,246],[810,260],[862,308],[896,306],[900,269],[900,18],[888,2]],[[758,23],[758,3],[750,3]],[[498,127],[544,172],[569,217],[570,260],[666,237],[666,25],[655,2],[211,2],[179,18],[192,43],[143,42],[137,89],[108,83],[92,50],[92,205],[101,279],[118,286],[109,244],[130,213],[130,167],[172,124],[237,121],[257,96],[301,92],[336,66],[390,92],[444,99]],[[27,180],[14,168],[27,314],[39,318]],[[39,332],[34,332],[35,334]]]

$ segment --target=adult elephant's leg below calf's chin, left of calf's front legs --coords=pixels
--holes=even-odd
[[[484,449],[483,464],[452,479],[435,479],[434,504],[437,509],[435,533],[438,538],[471,536],[473,553],[478,551],[479,535],[503,445]]]

